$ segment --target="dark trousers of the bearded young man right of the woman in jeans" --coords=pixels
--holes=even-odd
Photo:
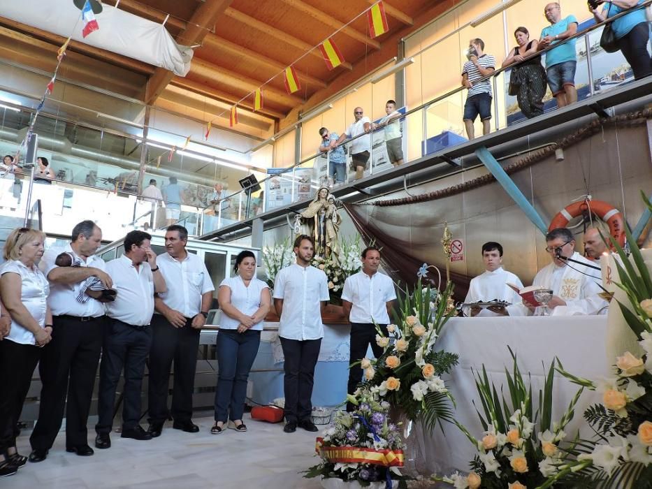
[[[319,340],[289,340],[281,337],[285,377],[285,420],[310,421],[314,366],[319,359]]]

